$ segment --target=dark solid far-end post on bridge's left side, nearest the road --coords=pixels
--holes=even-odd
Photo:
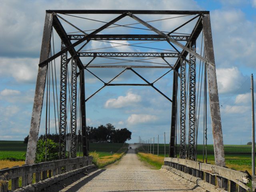
[[[80,70],[80,105],[81,105],[80,108],[81,108],[82,144],[83,144],[83,155],[88,156],[85,104],[86,102],[85,102],[84,69],[81,69]]]

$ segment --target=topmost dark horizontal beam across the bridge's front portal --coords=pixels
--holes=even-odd
[[[46,10],[46,13],[60,14],[175,14],[175,15],[194,15],[209,14],[209,11],[180,11],[180,10]]]

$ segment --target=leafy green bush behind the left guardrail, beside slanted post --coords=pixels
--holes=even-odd
[[[47,145],[47,147],[46,147]],[[47,148],[47,150],[46,150]],[[58,143],[53,142],[51,139],[39,139],[36,147],[36,163],[44,161],[52,161],[58,159]],[[45,157],[46,152],[46,157]]]

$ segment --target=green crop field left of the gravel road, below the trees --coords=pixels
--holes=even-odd
[[[89,150],[90,152],[96,151],[101,157],[117,152],[122,146],[122,143],[90,143]],[[0,160],[24,161],[26,150],[27,144],[23,141],[0,141]]]

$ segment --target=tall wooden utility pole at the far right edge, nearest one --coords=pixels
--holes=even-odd
[[[254,131],[254,86],[253,74],[251,76],[251,93],[252,93],[252,176],[255,175],[255,131]]]

